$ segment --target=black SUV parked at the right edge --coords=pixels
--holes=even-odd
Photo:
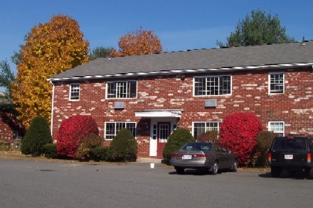
[[[272,177],[280,177],[282,170],[295,174],[304,170],[313,177],[313,139],[300,136],[274,138],[268,152],[268,165]]]

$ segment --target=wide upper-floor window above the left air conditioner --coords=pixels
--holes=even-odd
[[[134,98],[137,81],[107,82],[107,98]]]

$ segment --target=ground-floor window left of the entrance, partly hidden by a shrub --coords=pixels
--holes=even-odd
[[[136,136],[136,123],[134,122],[106,122],[105,139],[113,139],[122,128],[127,128]]]

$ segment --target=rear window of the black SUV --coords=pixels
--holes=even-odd
[[[276,139],[272,150],[306,150],[304,139]]]

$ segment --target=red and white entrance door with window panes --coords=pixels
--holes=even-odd
[[[158,122],[157,125],[157,157],[162,158],[164,146],[171,133],[171,122]]]

